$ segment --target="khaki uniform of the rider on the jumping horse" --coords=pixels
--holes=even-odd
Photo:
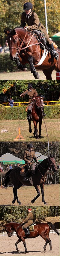
[[[52,44],[51,40],[49,39],[49,35],[46,32],[46,28],[39,21],[38,15],[35,12],[31,12],[29,17],[26,15],[26,12],[22,12],[20,27],[24,28],[26,24],[28,25],[29,31],[33,31],[34,29],[41,30],[41,32],[45,34],[47,42],[50,45]]]

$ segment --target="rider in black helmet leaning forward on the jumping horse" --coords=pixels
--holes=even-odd
[[[33,6],[31,2],[26,2],[24,4],[23,9],[25,12],[22,12],[20,27],[28,29],[29,32],[34,31],[34,33],[38,35],[39,39],[41,38],[41,33],[44,33],[46,38],[46,40],[44,38],[44,43],[46,42],[46,45],[51,49],[52,56],[57,58],[59,55],[54,49],[53,43],[46,32],[46,28],[39,21],[38,15],[32,11],[32,8]]]

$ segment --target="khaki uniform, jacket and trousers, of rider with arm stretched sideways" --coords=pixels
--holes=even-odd
[[[31,90],[26,90],[22,93],[22,96],[25,96],[25,95],[28,95],[29,97],[29,105],[28,105],[28,109],[31,110],[32,109],[32,106],[34,105],[34,102],[33,102],[33,98],[38,96],[38,92],[32,88]]]

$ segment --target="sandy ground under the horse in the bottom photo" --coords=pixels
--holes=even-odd
[[[27,255],[43,255],[43,256],[57,256],[59,254],[59,236],[55,233],[50,233],[49,238],[52,241],[52,251],[49,251],[49,244],[46,246],[46,252],[44,253],[44,244],[45,241],[39,236],[33,239],[26,239],[26,246],[28,253]],[[25,248],[22,242],[19,243],[18,249],[20,254],[17,253],[15,243],[17,241],[17,236],[0,236],[0,256],[13,256],[13,255],[23,255]]]

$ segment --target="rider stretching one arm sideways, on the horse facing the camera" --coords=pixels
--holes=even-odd
[[[35,97],[38,96],[38,92],[37,92],[34,88],[32,88],[32,84],[29,83],[29,84],[28,84],[28,89],[27,89],[26,91],[24,91],[24,92],[20,95],[20,97],[23,97],[23,96],[25,96],[26,94],[27,94],[28,97],[29,97],[29,105],[28,105],[27,119],[30,119],[32,107],[33,107],[33,105],[34,105],[33,99],[35,99]],[[44,114],[44,106],[43,106],[43,104],[42,104],[42,98],[41,98],[41,105],[42,105],[43,116],[45,116],[45,114]]]

